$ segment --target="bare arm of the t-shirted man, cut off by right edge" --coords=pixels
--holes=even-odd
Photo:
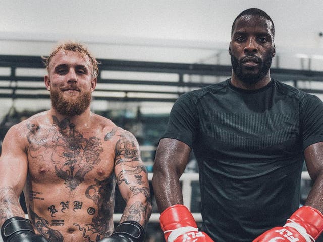
[[[313,180],[305,205],[323,212],[323,142],[308,146],[304,154],[308,173]]]

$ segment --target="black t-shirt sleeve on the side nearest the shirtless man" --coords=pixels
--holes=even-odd
[[[161,138],[177,139],[192,148],[198,127],[197,115],[192,94],[181,95],[173,105],[165,133]]]

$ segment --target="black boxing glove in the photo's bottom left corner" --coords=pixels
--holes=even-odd
[[[1,236],[4,242],[48,242],[35,234],[30,220],[22,217],[7,219],[1,227]]]

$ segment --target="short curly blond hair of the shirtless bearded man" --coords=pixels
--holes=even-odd
[[[58,45],[48,57],[42,57],[43,62],[45,64],[45,67],[47,68],[47,71],[49,72],[49,63],[53,56],[55,56],[60,50],[68,50],[80,53],[83,56],[87,56],[90,59],[91,65],[92,65],[92,76],[97,77],[99,74],[99,68],[98,68],[98,61],[94,58],[94,56],[88,51],[88,49],[78,42],[64,42],[60,45]]]

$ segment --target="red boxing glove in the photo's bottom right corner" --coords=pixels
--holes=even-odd
[[[303,206],[287,219],[283,227],[272,228],[253,242],[315,242],[323,230],[323,215],[317,209]]]

